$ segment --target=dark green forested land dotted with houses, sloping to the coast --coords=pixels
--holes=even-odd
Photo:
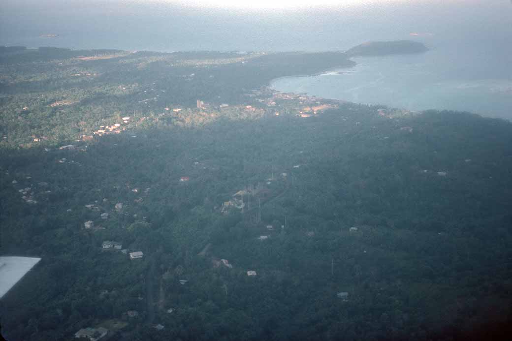
[[[3,63],[0,251],[42,258],[2,299],[4,336],[451,340],[505,325],[512,124],[261,87],[338,56]]]

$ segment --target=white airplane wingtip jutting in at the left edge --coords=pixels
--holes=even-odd
[[[41,259],[0,257],[0,299]]]

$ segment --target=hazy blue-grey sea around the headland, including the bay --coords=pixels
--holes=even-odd
[[[421,41],[431,50],[356,58],[355,68],[276,79],[272,87],[410,110],[463,110],[512,119],[510,0],[352,0],[294,9],[190,6],[171,0],[0,0],[0,45],[5,46],[343,51],[365,41],[396,39]]]

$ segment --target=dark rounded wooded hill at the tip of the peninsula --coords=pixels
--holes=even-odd
[[[351,57],[355,56],[383,56],[389,54],[423,53],[429,49],[421,42],[412,40],[394,41],[369,41],[357,45],[346,52]]]

